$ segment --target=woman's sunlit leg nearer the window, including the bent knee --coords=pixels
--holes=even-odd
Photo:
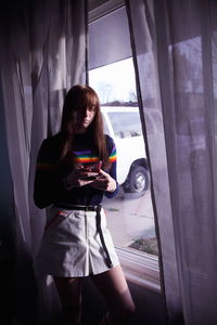
[[[120,265],[92,275],[92,280],[110,309],[100,324],[128,324],[135,312],[135,303]]]

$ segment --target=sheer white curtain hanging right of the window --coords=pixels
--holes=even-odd
[[[170,324],[217,324],[217,2],[127,0]]]

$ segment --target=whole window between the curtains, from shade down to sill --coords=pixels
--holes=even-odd
[[[103,205],[127,276],[159,289],[150,174],[127,24],[124,5],[89,24],[89,84],[100,96],[104,131],[116,143],[120,184],[118,196],[105,198]]]

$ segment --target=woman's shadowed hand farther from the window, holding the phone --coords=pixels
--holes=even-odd
[[[69,191],[73,187],[80,187],[92,183],[98,176],[99,172],[88,171],[82,167],[76,168],[63,179],[63,184]]]

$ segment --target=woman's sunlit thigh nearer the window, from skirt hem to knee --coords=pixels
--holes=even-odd
[[[133,313],[135,304],[120,265],[91,278],[112,311]]]

